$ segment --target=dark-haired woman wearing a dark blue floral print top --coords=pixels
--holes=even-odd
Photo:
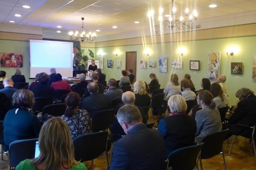
[[[76,136],[90,133],[90,116],[86,110],[79,109],[80,96],[76,92],[70,92],[66,99],[66,111],[62,119],[70,128],[72,139]]]

